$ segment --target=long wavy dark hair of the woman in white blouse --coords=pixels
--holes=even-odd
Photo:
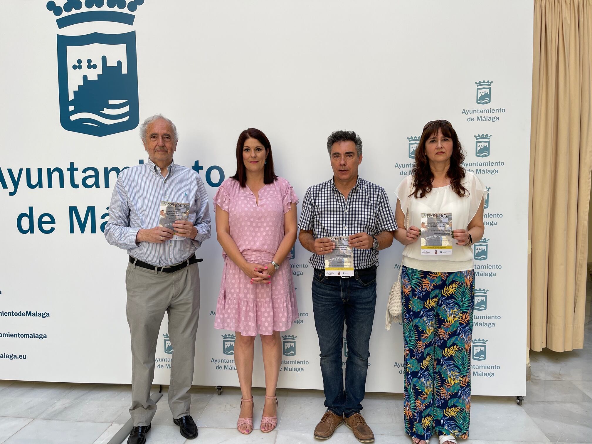
[[[458,140],[456,131],[452,128],[452,125],[445,123],[442,120],[433,121],[429,124],[422,133],[422,137],[419,140],[419,145],[415,152],[415,165],[413,166],[413,191],[411,195],[415,198],[422,198],[427,193],[432,191],[432,181],[434,174],[430,168],[430,161],[426,155],[426,142],[435,134],[438,130],[442,130],[444,137],[452,139],[452,156],[450,158],[450,167],[446,176],[450,178],[450,184],[452,191],[458,194],[460,197],[465,197],[468,194],[468,189],[462,186],[462,179],[465,178],[465,169],[462,166],[462,162],[465,160],[464,150],[462,149],[461,142]]]

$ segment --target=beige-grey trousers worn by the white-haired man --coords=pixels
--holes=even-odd
[[[200,270],[194,263],[173,272],[129,263],[126,271],[127,322],[131,335],[131,407],[134,426],[147,426],[156,413],[150,399],[160,324],[169,316],[173,347],[169,407],[173,418],[189,414],[195,361],[195,334],[200,316]]]

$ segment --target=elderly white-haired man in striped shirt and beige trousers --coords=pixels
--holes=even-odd
[[[169,406],[181,435],[197,437],[189,415],[195,334],[200,314],[200,272],[195,258],[209,239],[208,196],[197,172],[173,162],[178,134],[163,115],[147,118],[140,137],[149,160],[121,171],[109,206],[105,238],[127,250],[127,321],[131,334],[131,408],[134,427],[128,444],[144,444],[156,404],[150,399],[160,323],[169,316],[174,349]],[[161,202],[185,204],[186,220],[159,226]],[[165,204],[166,205],[166,204]]]

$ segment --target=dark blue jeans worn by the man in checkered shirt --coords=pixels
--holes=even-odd
[[[368,350],[376,307],[376,267],[355,276],[325,276],[314,269],[313,313],[321,349],[325,407],[349,417],[362,410],[368,372]],[[343,321],[347,326],[348,358],[343,387]]]

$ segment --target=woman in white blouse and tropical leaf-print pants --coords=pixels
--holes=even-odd
[[[437,433],[440,444],[469,435],[474,262],[471,244],[485,229],[487,194],[447,120],[428,122],[413,174],[397,188],[395,239],[405,245],[401,287],[405,355],[405,430],[416,444]],[[452,250],[422,248],[422,215],[452,221]],[[442,214],[443,213],[443,214]],[[426,222],[426,219],[423,220]],[[445,239],[443,244],[446,244]]]

